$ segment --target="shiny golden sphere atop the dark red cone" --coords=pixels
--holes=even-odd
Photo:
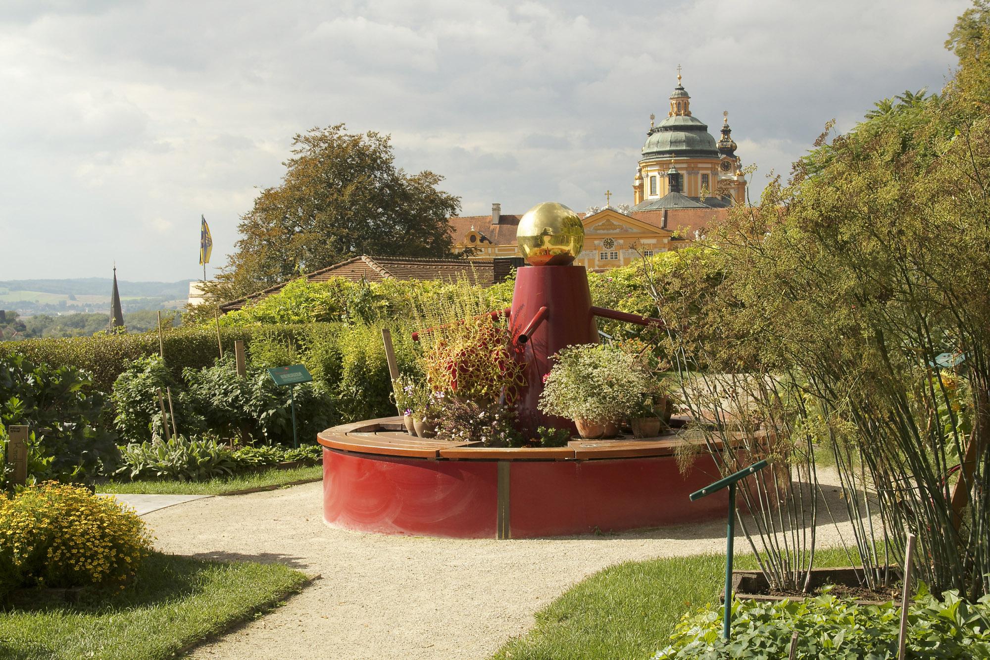
[[[581,253],[584,225],[573,209],[543,202],[519,221],[516,242],[532,266],[566,266]]]

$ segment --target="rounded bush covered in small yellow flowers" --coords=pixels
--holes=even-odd
[[[151,550],[144,520],[113,497],[47,483],[0,498],[0,591],[120,585]]]

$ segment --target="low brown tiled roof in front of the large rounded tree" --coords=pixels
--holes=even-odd
[[[395,279],[446,279],[456,281],[464,276],[468,281],[482,286],[491,286],[502,281],[512,270],[512,262],[507,259],[413,259],[408,257],[368,257],[362,255],[353,257],[340,264],[335,264],[319,271],[314,271],[307,275],[300,275],[295,279],[305,278],[308,281],[327,281],[331,277],[347,277],[354,281],[364,279],[366,281],[381,281],[387,277]],[[263,298],[277,293],[288,284],[290,279],[280,284],[269,286],[246,295],[237,300],[231,300],[220,305],[220,311],[229,312],[241,309],[252,300]]]

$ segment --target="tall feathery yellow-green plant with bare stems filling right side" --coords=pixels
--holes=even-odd
[[[823,136],[788,185],[710,227],[708,261],[678,263],[687,295],[659,300],[681,355],[801,388],[804,437],[832,449],[849,517],[885,522],[855,523],[867,565],[890,561],[870,557],[874,541],[902,556],[908,527],[922,579],[972,600],[990,593],[986,44],[977,2],[950,35],[959,67],[940,96],[905,92]],[[963,360],[942,370],[942,353]]]

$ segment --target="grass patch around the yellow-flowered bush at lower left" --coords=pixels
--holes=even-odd
[[[0,614],[11,660],[170,658],[298,591],[306,576],[280,564],[233,564],[153,553],[125,591],[78,605]]]

